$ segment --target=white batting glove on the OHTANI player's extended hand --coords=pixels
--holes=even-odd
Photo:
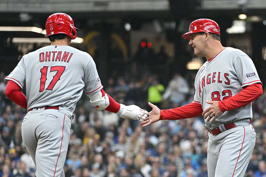
[[[139,121],[144,121],[144,119],[147,116],[147,111],[144,109],[141,109],[139,106],[136,106],[134,104],[125,106],[124,104],[120,104],[120,110],[116,113],[119,114],[119,117],[122,117],[124,119],[134,119]]]

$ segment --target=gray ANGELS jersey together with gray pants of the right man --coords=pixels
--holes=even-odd
[[[195,78],[194,101],[202,105],[202,110],[210,106],[208,101],[221,101],[238,94],[244,86],[261,83],[256,68],[244,52],[226,47],[215,57],[207,60]],[[249,122],[252,118],[251,104],[226,111],[209,128],[234,122],[236,127],[218,135],[209,133],[208,176],[244,176],[254,149],[256,132]]]

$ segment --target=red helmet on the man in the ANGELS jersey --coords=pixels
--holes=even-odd
[[[189,35],[195,32],[211,32],[220,36],[220,27],[211,19],[197,19],[190,24],[189,32],[182,35],[182,37],[190,40]]]

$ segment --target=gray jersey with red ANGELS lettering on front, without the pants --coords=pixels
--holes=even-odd
[[[205,110],[210,106],[206,100],[222,101],[252,83],[261,83],[252,60],[241,50],[226,47],[199,69],[194,84],[194,102],[200,103],[202,110]],[[248,118],[252,118],[251,104],[226,111],[213,123],[205,120],[205,124],[207,127],[215,127],[221,123]]]

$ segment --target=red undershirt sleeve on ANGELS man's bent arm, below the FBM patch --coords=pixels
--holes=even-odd
[[[259,96],[261,96],[262,93],[263,90],[261,83],[251,84],[249,86],[246,86],[238,94],[223,101],[219,101],[219,108],[222,112],[225,112],[246,106],[257,99]]]

